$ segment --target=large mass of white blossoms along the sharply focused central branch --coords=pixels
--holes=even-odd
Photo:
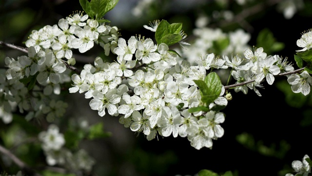
[[[155,21],[152,27],[144,27],[156,32],[159,23]],[[71,76],[73,86],[69,92],[85,93],[85,98],[91,99],[90,108],[97,110],[98,115],[104,116],[108,112],[120,116],[121,124],[134,132],[143,132],[148,140],[157,135],[179,135],[187,137],[196,149],[201,149],[212,148],[212,139],[223,136],[224,130],[220,124],[224,122],[225,114],[220,110],[227,106],[231,94],[228,90],[225,93],[222,86],[218,97],[206,104],[203,101],[206,95],[195,84],[195,80],[204,81],[209,71],[231,68],[230,76],[236,80],[235,84],[248,82],[235,87],[235,92],[247,94],[248,89],[254,89],[261,96],[257,88],[262,88],[264,80],[272,85],[276,75],[294,70],[287,59],[278,55],[268,56],[262,47],[254,48],[254,51],[249,49],[247,42],[250,36],[241,30],[230,34],[230,45],[222,57],[214,53],[203,54],[193,63],[179,61],[178,54],[165,43],[155,44],[152,39],[140,36],[132,36],[126,41],[119,38],[117,31],[117,27],[100,24],[80,13],[59,20],[59,25],[44,26],[39,31],[33,31],[26,41],[28,56],[19,57],[17,61],[5,59],[9,67],[5,73],[6,79],[17,82],[36,80],[46,86],[43,94],[49,95],[52,91],[58,94],[59,84],[69,81],[66,66],[73,63],[70,61],[73,59],[71,50],[78,49],[84,53],[94,44],[99,44],[104,48],[105,55],[110,52],[117,55],[116,62],[104,62],[97,57],[94,65],[86,64],[81,73]],[[205,32],[214,32],[215,35],[205,35],[212,38],[201,42],[201,45],[207,44],[204,50],[215,44],[214,41],[227,40],[221,31],[206,28],[195,31],[198,35]],[[186,35],[182,30],[180,35],[181,40],[177,43],[189,45],[183,42]],[[241,53],[244,57],[232,54],[229,58],[230,52]],[[67,64],[64,58],[68,60]],[[288,76],[288,81],[294,92],[305,95],[310,92],[312,80],[307,72]],[[20,110],[29,109],[27,103],[23,103],[23,98],[12,102],[17,102]],[[55,117],[62,116],[67,107],[66,103],[55,100],[42,104],[36,104],[27,118],[31,119],[40,111],[47,115],[48,121],[53,121]],[[196,107],[205,109],[189,111]]]

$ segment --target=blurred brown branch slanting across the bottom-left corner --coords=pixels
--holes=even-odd
[[[31,169],[27,164],[20,160],[16,155],[12,154],[9,150],[4,148],[0,145],[0,153],[7,155],[12,161],[19,166],[19,168],[24,171],[25,173],[32,175],[32,176],[41,176],[40,174],[36,173],[33,169]]]

